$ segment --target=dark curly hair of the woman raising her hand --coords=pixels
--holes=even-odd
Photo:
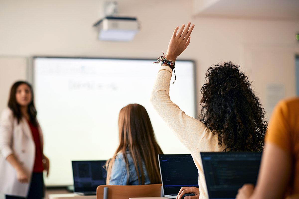
[[[248,77],[231,62],[210,66],[200,90],[201,121],[218,134],[228,151],[262,151],[267,130],[265,111]]]

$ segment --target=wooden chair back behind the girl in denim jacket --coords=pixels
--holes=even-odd
[[[96,199],[129,199],[139,197],[160,197],[162,184],[149,185],[100,185]]]

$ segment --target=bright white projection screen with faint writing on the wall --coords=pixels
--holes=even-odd
[[[37,118],[50,159],[47,186],[73,184],[71,160],[107,160],[118,145],[118,114],[127,104],[147,109],[164,154],[190,153],[149,101],[159,70],[154,60],[33,58]],[[174,80],[174,75],[171,83]],[[176,61],[170,98],[196,118],[195,65]]]

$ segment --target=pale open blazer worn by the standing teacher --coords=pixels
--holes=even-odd
[[[38,126],[41,146],[43,148],[42,130]],[[35,161],[35,144],[29,124],[22,118],[18,124],[10,108],[5,108],[0,117],[0,193],[27,197],[33,165]],[[29,183],[20,183],[16,170],[6,160],[14,154],[29,176]]]

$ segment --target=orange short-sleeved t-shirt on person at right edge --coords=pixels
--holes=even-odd
[[[299,194],[299,98],[283,100],[276,105],[265,141],[291,155],[292,173],[286,195]]]

